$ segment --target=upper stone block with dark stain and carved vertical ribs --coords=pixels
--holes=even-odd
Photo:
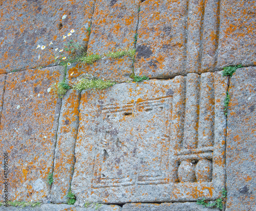
[[[135,73],[151,78],[167,78],[214,71],[219,2],[142,2]]]

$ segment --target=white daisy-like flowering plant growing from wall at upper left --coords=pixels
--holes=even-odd
[[[63,36],[62,40],[66,41],[66,38],[69,38],[75,32],[72,29],[67,36]],[[47,48],[49,50],[49,54],[54,57],[55,63],[63,66],[70,66],[73,62],[80,62],[82,57],[86,56],[85,47],[74,40],[70,40],[67,43],[63,44],[63,48],[57,46],[58,44],[54,44],[52,41],[48,45],[38,44],[36,49],[45,51]],[[45,53],[45,52],[44,52]],[[48,54],[48,53],[47,53]],[[40,54],[38,55],[38,60],[40,59]]]

